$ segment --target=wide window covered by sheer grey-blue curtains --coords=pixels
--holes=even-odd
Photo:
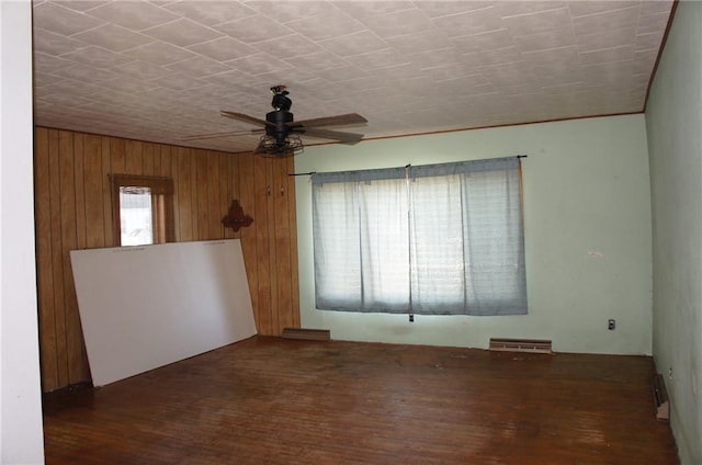
[[[313,175],[319,309],[526,313],[518,158]]]

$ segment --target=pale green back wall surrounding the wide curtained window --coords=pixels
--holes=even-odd
[[[370,124],[373,124],[371,122]],[[523,160],[529,315],[407,316],[315,309],[312,190],[298,177],[301,317],[337,340],[486,348],[543,338],[555,351],[652,353],[649,178],[643,115],[307,147],[297,172],[528,155]],[[609,318],[616,330],[609,331]]]

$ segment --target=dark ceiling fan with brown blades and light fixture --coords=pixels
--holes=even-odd
[[[291,157],[303,151],[304,145],[301,135],[337,140],[342,144],[355,144],[363,138],[363,134],[342,133],[330,131],[326,126],[349,126],[365,124],[367,120],[358,113],[347,113],[336,116],[325,116],[313,120],[295,121],[290,109],[293,105],[287,97],[290,92],[283,84],[271,88],[273,100],[271,106],[273,111],[265,114],[265,120],[249,116],[244,113],[236,113],[222,110],[219,114],[225,117],[238,120],[261,126],[246,133],[213,133],[185,137],[184,140],[196,140],[204,138],[236,136],[244,134],[261,134],[259,145],[253,150],[254,154],[269,157]]]

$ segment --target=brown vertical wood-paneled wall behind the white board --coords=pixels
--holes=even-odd
[[[90,379],[69,251],[114,247],[110,173],[173,179],[176,240],[239,238],[260,334],[299,327],[293,159],[35,128],[42,387]],[[253,224],[222,225],[237,199]],[[135,271],[138,272],[138,271]]]

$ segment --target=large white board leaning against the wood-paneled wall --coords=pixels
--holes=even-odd
[[[70,252],[94,386],[257,333],[238,239]]]

